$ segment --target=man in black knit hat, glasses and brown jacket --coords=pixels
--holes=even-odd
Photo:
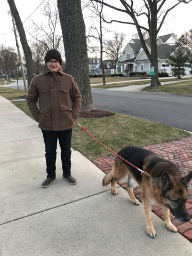
[[[33,78],[26,96],[29,110],[42,129],[45,143],[47,179],[42,183],[43,188],[49,187],[55,180],[58,139],[63,178],[71,185],[77,183],[70,171],[70,145],[74,120],[81,110],[81,93],[75,79],[62,72],[61,63],[61,54],[57,50],[47,51],[44,71]]]

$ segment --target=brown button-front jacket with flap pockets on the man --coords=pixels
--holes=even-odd
[[[26,100],[39,128],[46,131],[72,128],[81,110],[81,93],[75,79],[63,73],[61,67],[54,75],[45,65],[43,73],[31,81]]]

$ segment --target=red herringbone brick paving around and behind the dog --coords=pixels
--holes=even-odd
[[[192,170],[192,138],[161,143],[153,146],[146,146],[145,148],[154,151],[157,155],[160,155],[176,164],[183,176]],[[115,163],[115,155],[96,159],[92,161],[92,163],[97,165],[101,171],[108,173]],[[126,183],[119,183],[119,185],[121,185],[123,188],[126,188],[127,186]],[[192,186],[192,180],[190,181],[190,185]],[[190,217],[192,218],[192,189],[189,188],[188,192],[186,207]],[[139,186],[134,188],[134,194],[135,197],[137,197],[138,200],[142,202],[141,190]],[[153,205],[152,211],[159,218],[163,219],[161,207],[158,205]],[[179,233],[187,238],[190,242],[192,242],[192,219],[187,222],[180,222],[179,220],[175,219],[172,214],[170,214],[170,217],[173,225],[177,227]]]

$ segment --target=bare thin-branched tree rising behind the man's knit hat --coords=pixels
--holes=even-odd
[[[33,21],[34,31],[29,33],[36,41],[44,44],[46,50],[56,49],[63,53],[62,35],[57,35],[57,28],[60,26],[59,11],[56,1],[47,1],[42,10],[43,15],[47,19],[47,26],[43,27],[43,23],[38,25]],[[43,32],[43,37],[39,36]]]

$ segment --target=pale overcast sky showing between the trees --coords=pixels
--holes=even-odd
[[[135,0],[134,0],[135,1]],[[42,15],[42,9],[44,3],[37,9],[37,7],[43,2],[43,0],[15,0],[15,5],[20,14],[20,18],[23,22],[24,28],[27,30],[31,30],[31,19],[33,19],[36,23],[41,23],[44,20],[44,16]],[[118,4],[118,7],[121,7],[118,0],[110,0],[110,4],[113,2]],[[137,0],[136,0],[137,2]],[[141,2],[141,0],[140,0]],[[167,2],[177,2],[177,0],[169,0]],[[36,10],[37,9],[37,10]],[[7,0],[1,0],[1,15],[0,15],[0,44],[5,46],[15,47],[15,37],[13,34],[13,24],[11,20],[11,15],[7,13],[9,9],[9,4]],[[36,11],[35,11],[36,10]],[[123,16],[121,13],[116,13],[111,10],[106,10],[106,15],[108,18],[113,19],[129,19],[127,16]],[[192,11],[192,2],[189,4],[181,3],[179,6],[175,7],[171,14],[167,17],[165,25],[162,27],[159,35],[166,35],[170,33],[175,33],[178,37],[181,36],[182,33],[188,31],[192,28],[191,25],[191,11]],[[32,14],[32,15],[31,15]],[[30,18],[28,18],[30,16]],[[87,17],[87,13],[84,13],[84,17]],[[26,20],[27,19],[27,20]],[[85,19],[86,27],[89,27],[89,20]],[[46,26],[46,24],[45,24]],[[110,30],[118,31],[119,33],[123,32],[126,34],[126,40],[131,39],[131,35],[136,33],[136,29],[131,25],[121,25],[119,23],[113,23],[110,25]],[[61,33],[61,30],[60,30]],[[32,42],[33,39],[26,32],[27,38],[29,42]],[[111,36],[112,37],[112,36]],[[19,41],[20,42],[20,41]]]

